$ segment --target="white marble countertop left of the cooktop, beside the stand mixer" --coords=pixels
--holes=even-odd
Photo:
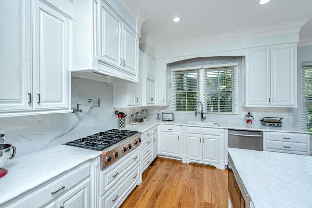
[[[58,145],[9,160],[8,174],[0,178],[0,204],[33,189],[59,174],[96,158],[101,151]]]

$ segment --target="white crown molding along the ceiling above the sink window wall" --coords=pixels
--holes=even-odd
[[[301,27],[308,21],[301,20],[277,25],[270,25],[265,27],[258,27],[253,29],[241,30],[232,33],[225,33],[214,36],[206,36],[201,38],[193,38],[187,40],[159,43],[156,46],[156,51],[163,51],[170,49],[181,49],[195,46],[202,46],[208,44],[216,44],[221,42],[244,41],[245,39],[259,38],[273,35],[282,35],[288,33],[298,33]]]

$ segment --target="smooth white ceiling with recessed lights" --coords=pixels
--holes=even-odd
[[[135,0],[146,21],[141,33],[156,43],[200,38],[311,19],[300,38],[312,37],[312,0]],[[175,23],[174,17],[181,21]]]

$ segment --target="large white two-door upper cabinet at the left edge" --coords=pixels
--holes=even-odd
[[[70,110],[71,2],[0,2],[0,117]],[[63,12],[67,11],[69,14]]]

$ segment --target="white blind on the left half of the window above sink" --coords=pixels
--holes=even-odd
[[[199,100],[199,70],[172,72],[172,111],[195,111]]]

